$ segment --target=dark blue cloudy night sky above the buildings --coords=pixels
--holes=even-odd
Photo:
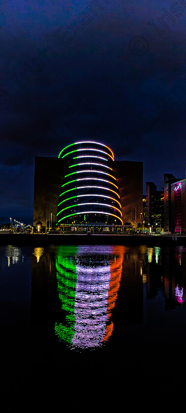
[[[0,223],[32,222],[34,156],[79,140],[143,161],[144,194],[185,177],[186,0],[90,3],[0,3]]]

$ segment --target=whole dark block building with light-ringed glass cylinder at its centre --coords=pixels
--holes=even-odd
[[[136,230],[139,223],[143,162],[115,161],[109,147],[94,141],[70,144],[58,158],[35,158],[34,231],[98,225],[122,231],[126,224]]]

